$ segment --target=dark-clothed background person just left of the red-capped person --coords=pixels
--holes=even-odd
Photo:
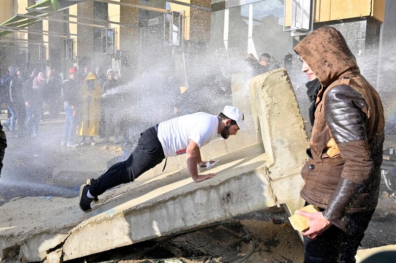
[[[51,118],[59,116],[62,105],[62,78],[55,69],[48,72],[48,105]]]

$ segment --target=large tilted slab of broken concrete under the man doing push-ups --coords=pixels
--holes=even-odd
[[[250,99],[258,143],[241,147],[238,140],[227,145],[231,142],[219,139],[203,147],[202,158],[220,160],[202,170],[217,173],[214,178],[194,182],[185,161],[176,157],[168,160],[172,172],[161,174],[159,165],[100,196],[89,213],[79,210],[78,198],[6,203],[0,207],[0,259],[18,244],[23,261],[56,261],[60,251],[59,260],[66,261],[276,204],[292,211],[301,207],[307,137],[286,70],[253,78]]]

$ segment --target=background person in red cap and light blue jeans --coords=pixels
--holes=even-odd
[[[77,106],[80,90],[77,73],[77,68],[70,68],[69,78],[64,80],[62,83],[63,107],[66,113],[66,120],[63,126],[63,140],[60,145],[66,145],[67,147],[79,146],[79,144],[74,143],[73,140],[77,123]]]

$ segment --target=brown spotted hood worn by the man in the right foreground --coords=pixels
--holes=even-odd
[[[323,86],[337,80],[344,72],[359,73],[355,56],[347,43],[333,27],[313,31],[294,50],[308,64]]]

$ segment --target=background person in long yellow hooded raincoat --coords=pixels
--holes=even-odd
[[[90,137],[90,144],[95,145],[94,136],[99,134],[100,100],[102,91],[93,73],[88,73],[81,87],[80,125],[78,134],[81,136],[80,145],[85,145],[85,139]]]

